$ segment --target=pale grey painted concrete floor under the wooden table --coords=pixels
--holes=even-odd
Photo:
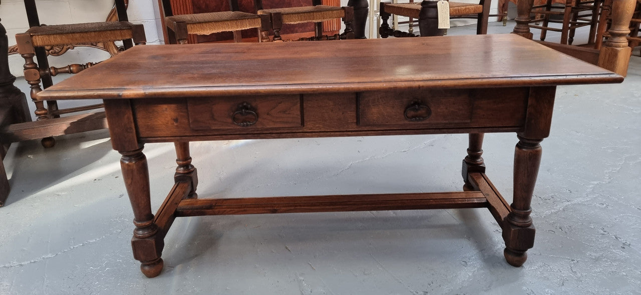
[[[492,23],[490,31],[510,31]],[[473,26],[451,29],[466,33]],[[637,49],[638,54],[638,49]],[[0,294],[640,294],[641,58],[626,81],[563,86],[533,198],[535,247],[503,259],[485,209],[176,219],[165,269],[140,273],[108,132],[12,145],[0,209]],[[487,134],[487,173],[511,199],[515,134]],[[201,196],[448,191],[467,136],[192,143]],[[149,144],[154,210],[171,144]]]

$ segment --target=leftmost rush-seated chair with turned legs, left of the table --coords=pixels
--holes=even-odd
[[[122,40],[123,50],[132,47],[134,43],[146,43],[142,24],[131,24],[127,21],[126,2],[124,0],[115,1],[118,21],[53,26],[39,25],[38,12],[34,0],[24,0],[24,4],[31,28],[29,28],[26,33],[16,34],[15,38],[18,52],[25,60],[24,77],[31,86],[31,99],[36,106],[34,113],[37,116],[37,120],[44,121],[60,118],[60,116],[64,114],[102,108],[102,104],[94,104],[92,106],[59,109],[55,100],[48,100],[45,108],[45,102],[36,100],[36,95],[42,91],[42,88],[48,88],[53,84],[51,77],[60,73],[76,74],[94,65],[94,63],[86,63],[82,65],[72,64],[60,68],[49,67],[47,55],[50,52],[60,53],[60,51],[67,51],[75,45],[98,47],[96,44],[118,40]],[[115,51],[117,52],[119,49],[115,49]],[[37,63],[34,61],[34,57],[37,58]],[[42,86],[40,86],[41,82]],[[43,124],[42,129],[35,134],[46,134],[46,132],[49,132],[51,135],[43,138],[42,145],[44,147],[53,147],[55,143],[53,137],[51,137],[53,135],[69,134],[71,131],[101,129],[106,126],[104,120],[100,120],[99,116],[97,116],[96,120],[85,120],[86,118],[87,116],[81,115],[66,118],[63,124]],[[74,128],[69,129],[69,124],[72,123],[75,124]],[[45,126],[49,126],[50,128]]]

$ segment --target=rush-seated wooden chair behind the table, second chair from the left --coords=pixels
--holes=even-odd
[[[210,35],[233,32],[234,42],[242,42],[241,31],[258,29],[258,42],[269,42],[271,20],[269,15],[238,11],[238,0],[229,0],[227,12],[191,13],[173,15],[169,0],[163,0],[165,24],[170,44],[186,44],[188,35]]]

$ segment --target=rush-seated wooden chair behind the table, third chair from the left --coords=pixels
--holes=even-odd
[[[301,38],[299,40],[339,40],[353,39],[354,31],[352,22],[354,20],[354,10],[352,7],[336,7],[321,5],[320,0],[312,0],[312,6],[288,7],[288,8],[270,8],[263,9],[261,0],[254,0],[259,15],[271,15],[272,28],[274,29],[274,41],[282,40],[280,30],[282,24],[301,24],[304,22],[313,22],[315,24],[315,33],[313,38]],[[323,21],[343,19],[345,31],[342,34],[334,36],[323,35]]]

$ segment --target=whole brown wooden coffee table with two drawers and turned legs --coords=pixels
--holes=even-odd
[[[37,97],[104,99],[135,216],[133,255],[153,277],[174,218],[221,214],[485,207],[520,266],[534,243],[530,202],[556,85],[622,80],[517,35],[472,35],[136,46]],[[485,175],[485,132],[518,136],[511,205]],[[442,133],[469,133],[463,191],[197,198],[189,153],[189,141]],[[155,216],[142,153],[151,142],[174,142],[178,156]]]

